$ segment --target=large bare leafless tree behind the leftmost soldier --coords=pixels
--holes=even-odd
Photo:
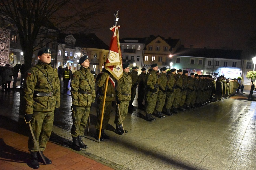
[[[42,37],[49,28],[65,33],[95,29],[92,19],[101,14],[101,1],[0,0],[1,17],[18,29],[25,69],[31,67],[33,52],[41,48],[39,44],[45,41]]]

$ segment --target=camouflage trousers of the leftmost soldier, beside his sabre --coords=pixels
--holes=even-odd
[[[31,126],[38,141],[40,151],[44,151],[46,144],[50,139],[53,127],[54,111],[51,112],[34,112],[32,115]],[[38,152],[32,134],[29,133],[28,150],[30,152]]]

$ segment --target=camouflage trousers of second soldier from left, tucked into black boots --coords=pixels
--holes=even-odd
[[[77,137],[84,135],[90,109],[91,107],[77,107],[75,111],[72,112],[73,125],[71,128],[71,136]]]

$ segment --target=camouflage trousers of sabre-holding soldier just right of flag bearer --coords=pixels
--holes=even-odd
[[[115,124],[121,124],[121,122],[125,121],[125,118],[128,113],[128,107],[129,107],[129,101],[121,101],[121,103],[119,104],[120,114],[121,114],[121,117],[120,117],[118,105],[116,106]]]

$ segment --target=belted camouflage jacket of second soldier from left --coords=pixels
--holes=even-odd
[[[79,107],[90,107],[95,101],[95,83],[93,74],[81,66],[75,71],[70,83],[72,104]]]

